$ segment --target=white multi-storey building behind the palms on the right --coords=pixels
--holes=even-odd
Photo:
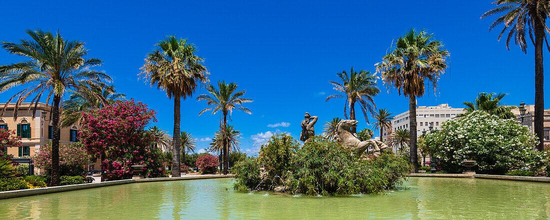
[[[453,119],[461,113],[464,113],[464,108],[449,107],[449,104],[416,107],[416,135],[422,135],[423,130],[429,133],[430,123],[433,123],[433,130],[436,130],[445,120]],[[382,131],[382,139],[388,143],[392,132],[399,129],[410,130],[409,111],[395,116],[395,119],[392,120],[391,130],[384,129]],[[397,147],[393,147],[394,152],[397,150]]]

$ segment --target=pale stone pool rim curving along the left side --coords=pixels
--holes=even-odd
[[[107,182],[100,182],[100,183],[85,183],[85,184],[76,184],[76,185],[67,185],[67,186],[52,186],[52,187],[37,188],[37,189],[3,191],[3,192],[0,192],[0,199],[40,195],[40,194],[47,194],[47,193],[58,193],[63,191],[90,189],[90,188],[98,188],[103,186],[122,185],[122,184],[139,183],[139,182],[159,182],[159,181],[174,181],[174,180],[186,180],[186,179],[211,179],[211,178],[228,178],[228,177],[233,177],[233,174],[189,175],[184,177],[147,178],[147,179],[124,179],[124,180],[114,180],[114,181],[107,181]]]

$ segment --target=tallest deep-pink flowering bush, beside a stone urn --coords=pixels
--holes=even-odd
[[[134,100],[83,113],[80,138],[90,155],[106,156],[101,163],[103,179],[129,179],[133,165],[145,166],[145,177],[166,176],[161,152],[149,147],[155,137],[145,130],[149,122],[156,122],[155,113]]]

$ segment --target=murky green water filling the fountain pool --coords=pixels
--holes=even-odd
[[[0,200],[0,219],[550,219],[550,184],[410,178],[406,190],[316,197],[239,193],[229,178]]]

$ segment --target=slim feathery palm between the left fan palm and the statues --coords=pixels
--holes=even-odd
[[[206,87],[206,90],[210,93],[210,95],[202,94],[197,97],[197,101],[200,100],[206,100],[208,106],[213,106],[209,108],[205,108],[199,113],[199,116],[202,113],[205,113],[206,111],[212,111],[212,114],[216,114],[216,112],[221,111],[223,114],[223,121],[221,123],[222,128],[227,127],[227,115],[229,114],[229,119],[231,119],[231,113],[233,112],[233,109],[252,114],[250,109],[243,107],[243,103],[246,102],[252,102],[253,100],[250,100],[248,98],[243,98],[244,94],[246,93],[245,90],[235,92],[237,90],[237,84],[231,82],[230,84],[226,84],[225,81],[218,81],[218,89],[214,87],[213,85],[208,85]],[[226,129],[221,129],[222,135],[227,137],[228,134],[225,133]],[[223,139],[226,141],[226,139]],[[223,174],[227,174],[227,166],[228,166],[228,151],[229,146],[227,142],[224,142],[222,146],[223,147]]]

